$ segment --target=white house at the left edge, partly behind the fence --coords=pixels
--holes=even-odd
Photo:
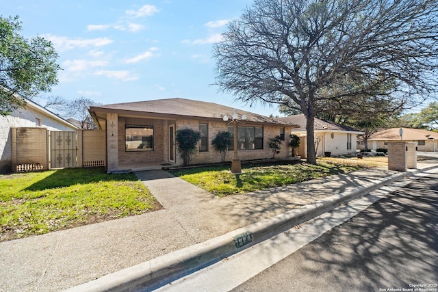
[[[27,104],[10,116],[0,116],[0,174],[11,172],[11,128],[45,128],[50,131],[76,131],[77,127],[51,111],[25,98]]]

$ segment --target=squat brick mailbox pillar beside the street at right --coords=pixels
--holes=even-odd
[[[417,143],[388,142],[388,170],[407,171],[417,168]]]

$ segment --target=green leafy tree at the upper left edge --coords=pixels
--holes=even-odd
[[[51,42],[40,36],[20,35],[18,16],[0,16],[0,116],[25,106],[21,96],[32,98],[57,84],[57,53]]]

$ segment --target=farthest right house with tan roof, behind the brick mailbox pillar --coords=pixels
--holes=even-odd
[[[403,135],[400,137],[400,129],[403,129]],[[410,129],[410,128],[391,128],[379,131],[371,135],[368,139],[368,148],[387,149],[389,141],[417,142],[418,151],[436,152],[438,151],[438,133],[433,131]],[[359,145],[364,148],[363,142]]]

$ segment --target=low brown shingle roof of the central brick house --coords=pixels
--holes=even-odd
[[[218,118],[222,120],[223,116],[231,117],[233,107],[208,103],[205,101],[193,101],[185,98],[157,99],[153,101],[138,101],[133,103],[116,103],[112,105],[99,105],[90,107],[90,111],[131,111],[141,114],[153,114],[157,116],[187,116],[190,118]],[[287,124],[288,122],[277,118],[270,118],[249,111],[237,109],[240,116],[246,115],[249,122],[262,122],[267,124]]]

